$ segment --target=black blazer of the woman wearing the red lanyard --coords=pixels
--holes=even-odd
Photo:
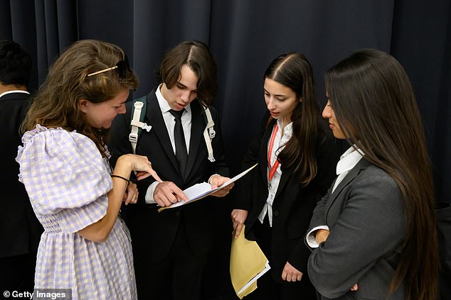
[[[262,119],[258,137],[253,141],[243,159],[243,169],[258,162],[252,176],[245,176],[235,190],[235,209],[249,211],[245,221],[245,237],[255,240],[254,225],[265,205],[267,191],[267,143],[276,120],[267,123],[270,114]],[[324,128],[325,129],[325,128]],[[285,169],[282,165],[282,177],[272,204],[272,257],[270,266],[272,277],[282,282],[282,270],[286,262],[307,276],[307,260],[310,250],[304,245],[303,237],[309,227],[312,211],[317,201],[326,194],[335,174],[336,162],[341,153],[341,143],[325,129],[325,135],[317,139],[317,176],[307,187],[299,184],[299,172]],[[340,147],[339,147],[340,145]],[[253,170],[253,171],[254,171]],[[304,277],[303,277],[304,278]],[[302,281],[301,281],[302,284]]]

